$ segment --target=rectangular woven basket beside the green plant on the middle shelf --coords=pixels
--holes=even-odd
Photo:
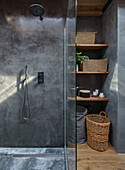
[[[108,62],[108,59],[84,60],[81,70],[84,72],[107,72]]]

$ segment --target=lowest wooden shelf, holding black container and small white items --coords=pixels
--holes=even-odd
[[[75,101],[75,97],[68,97],[68,99],[70,101]],[[104,97],[104,98],[100,98],[100,97],[90,97],[90,98],[83,98],[83,97],[76,97],[76,101],[79,102],[108,102],[109,98]]]

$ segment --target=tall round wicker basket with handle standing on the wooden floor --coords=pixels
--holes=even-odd
[[[102,116],[102,113],[105,116]],[[106,151],[110,126],[110,120],[106,117],[106,113],[102,111],[99,115],[87,115],[86,126],[88,145],[97,151]]]

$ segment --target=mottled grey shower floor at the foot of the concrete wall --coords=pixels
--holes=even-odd
[[[0,148],[0,170],[65,170],[64,149]]]

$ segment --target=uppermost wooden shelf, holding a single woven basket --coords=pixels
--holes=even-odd
[[[75,46],[75,44],[69,44],[69,47]],[[101,50],[107,48],[109,44],[77,44],[77,49],[80,50]]]

